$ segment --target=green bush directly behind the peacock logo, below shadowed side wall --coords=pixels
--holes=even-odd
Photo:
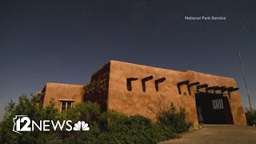
[[[97,103],[92,102],[79,103],[72,109],[62,111],[58,117],[60,121],[85,121],[86,123],[90,124],[90,130],[86,132],[73,130],[59,132],[62,141],[66,143],[81,143],[84,141],[92,142],[97,140],[97,136],[101,133],[98,126],[100,116],[100,106],[98,106]]]

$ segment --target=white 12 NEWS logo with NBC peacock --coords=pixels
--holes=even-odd
[[[27,115],[16,115],[14,120],[14,127],[13,131],[18,134],[22,134],[20,132],[23,131],[34,131],[35,129],[38,129],[40,131],[50,131],[50,126],[53,127],[53,130],[90,130],[90,127],[88,126],[88,123],[84,121],[78,121],[74,123],[74,127],[72,126],[71,120],[64,120],[63,122],[54,122],[53,120],[40,120],[39,123],[34,122],[34,120],[30,120]],[[66,127],[66,129],[64,129]]]

